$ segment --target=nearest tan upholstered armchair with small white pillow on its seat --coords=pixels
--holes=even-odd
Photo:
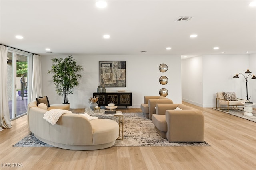
[[[159,135],[170,142],[204,142],[202,111],[184,104],[156,104],[152,123]]]

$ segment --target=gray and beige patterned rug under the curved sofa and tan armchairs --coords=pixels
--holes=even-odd
[[[150,119],[142,113],[124,114],[124,140],[116,140],[114,146],[210,146],[204,142],[169,142],[156,131]],[[121,125],[122,126],[122,125]],[[122,134],[122,132],[121,132]],[[13,145],[14,147],[50,147],[33,134]]]

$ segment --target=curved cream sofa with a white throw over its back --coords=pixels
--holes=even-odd
[[[50,109],[66,109],[65,105],[50,105]],[[79,114],[64,113],[55,125],[43,119],[47,110],[37,107],[36,100],[28,104],[28,126],[36,138],[44,143],[70,150],[96,150],[114,145],[119,125],[110,119],[89,121]]]

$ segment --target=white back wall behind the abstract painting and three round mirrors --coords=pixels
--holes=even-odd
[[[67,56],[53,56],[67,57]],[[174,103],[181,103],[181,59],[180,55],[118,55],[118,56],[72,56],[78,61],[84,71],[80,85],[74,88],[74,94],[69,95],[71,108],[89,107],[88,99],[93,92],[97,91],[99,85],[99,61],[126,61],[126,87],[109,88],[107,92],[115,92],[117,89],[125,89],[132,92],[132,106],[129,108],[140,108],[144,96],[159,96],[159,90],[168,90],[167,98]],[[52,57],[41,56],[42,75],[43,75],[43,95],[47,95],[50,104],[63,103],[62,96],[55,92],[52,83],[52,74],[47,74],[52,66]],[[158,66],[162,63],[167,64],[168,70],[162,73]],[[166,76],[168,83],[161,85],[160,76]]]

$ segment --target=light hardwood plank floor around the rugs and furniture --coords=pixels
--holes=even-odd
[[[184,103],[184,102],[183,102]],[[56,147],[12,147],[28,135],[26,116],[0,132],[1,169],[25,170],[255,170],[256,123],[211,108],[205,116],[205,141],[210,147],[110,147],[76,151]],[[71,109],[84,112],[84,109]],[[140,109],[121,109],[141,112]],[[4,168],[12,163],[22,168]],[[15,164],[14,164],[15,165]]]

